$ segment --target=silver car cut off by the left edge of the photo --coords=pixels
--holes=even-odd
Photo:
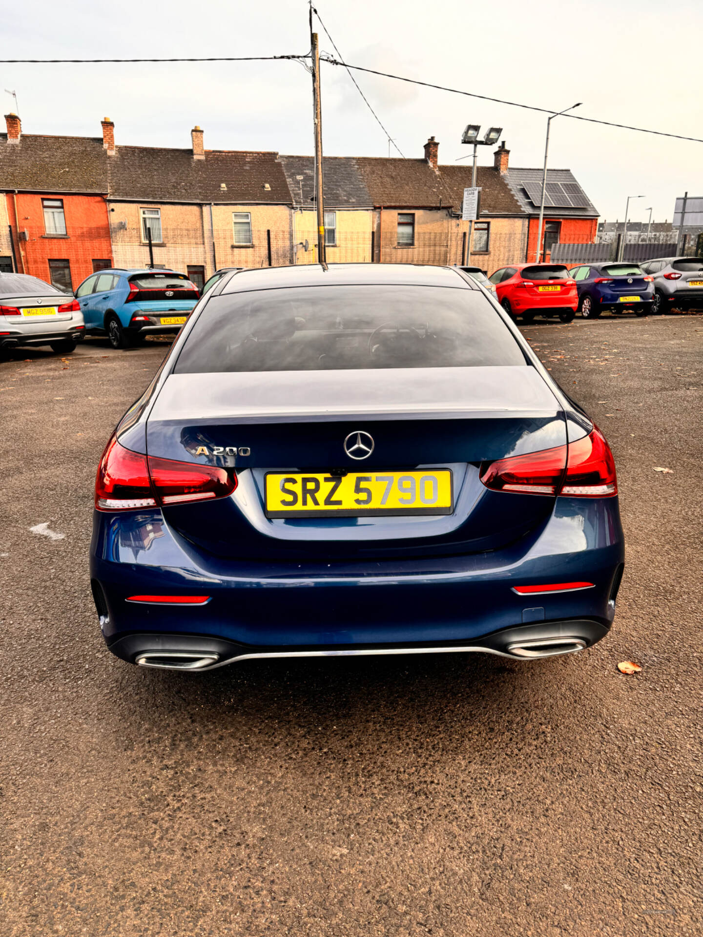
[[[81,307],[71,293],[36,276],[0,274],[0,354],[20,345],[49,345],[69,354],[84,330]]]

